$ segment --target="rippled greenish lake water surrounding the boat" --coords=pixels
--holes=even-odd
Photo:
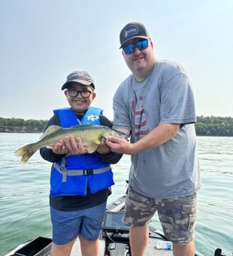
[[[0,133],[0,255],[36,236],[50,236],[50,163],[37,152],[26,165],[14,151],[38,140],[40,134]],[[233,251],[233,137],[198,137],[201,190],[195,244],[204,255],[215,248]],[[115,185],[109,203],[126,192],[129,156],[113,165]],[[153,225],[161,226],[157,215]]]

